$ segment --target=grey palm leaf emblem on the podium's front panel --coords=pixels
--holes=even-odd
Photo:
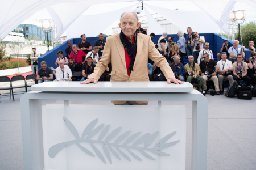
[[[63,117],[63,120],[65,122],[65,125],[68,127],[68,129],[71,131],[71,133],[74,135],[74,137],[76,139],[73,140],[73,141],[58,143],[56,145],[53,145],[51,148],[49,148],[48,155],[51,158],[54,158],[63,148],[68,147],[69,145],[73,145],[73,144],[77,145],[83,152],[85,152],[85,154],[88,154],[90,156],[95,157],[95,155],[91,151],[89,151],[87,148],[80,145],[80,143],[86,142],[86,143],[89,143],[90,146],[92,146],[92,149],[93,149],[94,153],[105,164],[106,164],[106,160],[105,160],[104,156],[98,150],[98,148],[94,146],[94,143],[101,144],[102,149],[104,151],[104,154],[105,154],[106,158],[109,160],[109,163],[112,163],[110,152],[119,160],[121,160],[121,158],[119,156],[119,155],[121,155],[121,156],[123,156],[123,158],[131,161],[130,157],[127,154],[125,154],[125,152],[121,151],[119,148],[125,148],[131,156],[133,156],[135,159],[137,159],[139,161],[141,161],[142,159],[139,158],[138,155],[134,154],[134,152],[132,152],[131,149],[138,150],[139,152],[141,152],[141,154],[144,157],[146,157],[148,159],[156,160],[155,158],[153,158],[152,156],[147,154],[145,151],[149,151],[152,154],[156,154],[156,155],[159,155],[159,156],[169,156],[169,154],[167,154],[165,152],[162,152],[161,150],[163,150],[164,148],[174,146],[174,145],[176,145],[177,143],[180,142],[180,141],[174,141],[174,142],[166,143],[168,141],[168,139],[170,139],[171,137],[173,137],[176,134],[176,131],[174,131],[174,132],[166,135],[166,137],[160,139],[160,141],[157,142],[154,147],[148,148],[159,134],[159,131],[156,131],[155,133],[153,133],[151,135],[150,135],[150,133],[142,135],[137,140],[135,140],[133,142],[133,144],[131,144],[130,146],[127,146],[127,145],[129,143],[131,143],[135,138],[137,138],[141,134],[141,132],[138,132],[138,133],[135,133],[135,134],[131,135],[129,138],[126,139],[125,142],[120,144],[121,141],[123,141],[130,134],[131,131],[129,130],[129,131],[126,131],[125,133],[119,135],[119,137],[117,139],[115,139],[115,141],[113,143],[110,143],[109,141],[111,139],[113,139],[115,136],[117,136],[119,131],[122,129],[121,127],[113,130],[108,136],[106,136],[105,140],[102,141],[102,139],[108,133],[110,125],[106,125],[104,127],[104,124],[101,124],[101,125],[97,126],[97,128],[94,128],[94,126],[98,122],[98,118],[93,120],[92,122],[90,122],[86,126],[86,128],[84,129],[84,132],[82,133],[82,136],[80,138],[79,133],[77,132],[75,126],[65,117]],[[99,135],[97,140],[90,139],[94,135],[96,135],[98,132],[100,132],[100,135]],[[138,147],[138,145],[140,145],[143,142],[144,142],[144,147]],[[114,151],[113,147],[118,152]]]

